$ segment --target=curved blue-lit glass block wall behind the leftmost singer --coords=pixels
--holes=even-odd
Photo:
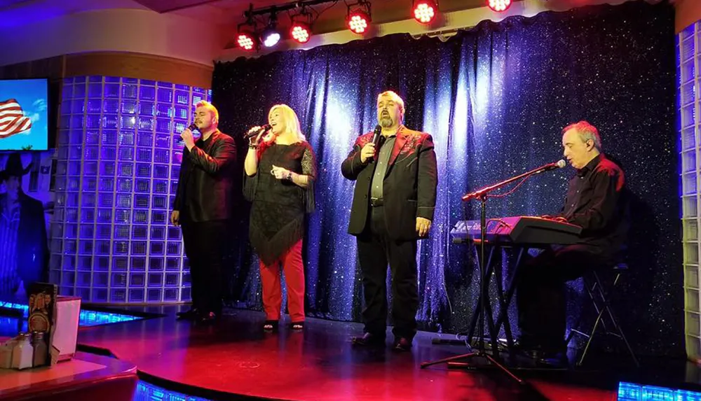
[[[194,105],[211,90],[135,78],[66,78],[60,104],[50,280],[84,302],[190,300],[169,223]]]

